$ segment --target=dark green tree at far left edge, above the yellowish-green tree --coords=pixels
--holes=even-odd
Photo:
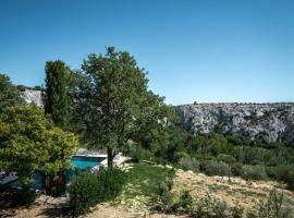
[[[24,102],[24,100],[21,98],[16,86],[10,82],[8,75],[0,74],[0,113],[5,108],[21,102]]]

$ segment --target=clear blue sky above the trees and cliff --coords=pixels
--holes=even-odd
[[[294,101],[293,0],[0,0],[0,72],[127,50],[168,104]]]

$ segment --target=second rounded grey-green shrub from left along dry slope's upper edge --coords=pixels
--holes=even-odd
[[[205,167],[205,172],[209,175],[232,175],[231,168],[228,164],[223,161],[210,160]]]

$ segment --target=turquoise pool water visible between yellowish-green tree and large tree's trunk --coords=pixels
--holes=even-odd
[[[72,156],[71,164],[76,169],[88,169],[94,166],[99,166],[105,157],[88,157],[88,156]]]

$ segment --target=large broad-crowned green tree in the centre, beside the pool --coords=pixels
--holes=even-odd
[[[82,69],[89,83],[82,92],[88,138],[94,147],[107,148],[111,169],[113,157],[136,132],[147,123],[167,124],[167,114],[158,112],[167,106],[148,90],[146,72],[128,52],[109,47],[106,56],[90,55]]]

